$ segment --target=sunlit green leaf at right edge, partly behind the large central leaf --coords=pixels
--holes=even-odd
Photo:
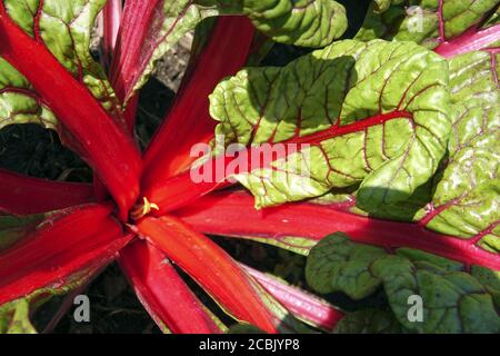
[[[356,206],[349,210],[400,221],[419,221],[427,216],[428,228],[461,237],[477,236],[498,224],[499,63],[497,50],[474,51],[449,60],[452,131],[440,171],[408,200],[370,214]],[[476,151],[478,159],[471,160]],[[350,191],[332,190],[313,202],[356,201],[356,187]],[[483,240],[493,243],[493,237]]]

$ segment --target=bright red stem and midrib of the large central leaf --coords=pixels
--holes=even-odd
[[[412,120],[411,113],[398,110],[387,112],[383,115],[373,116],[364,120],[359,120],[353,123],[344,126],[333,125],[326,130],[314,132],[311,135],[300,136],[300,132],[298,132],[291,139],[283,142],[279,142],[279,145],[284,145],[284,148],[287,150],[291,149],[292,151],[297,152],[300,151],[300,149],[302,148],[301,145],[316,146],[327,139],[349,135],[352,132],[364,131],[369,127],[382,125],[389,120],[399,118],[407,118],[409,120]],[[297,146],[293,147],[292,145]],[[227,168],[230,166],[232,161],[234,161],[234,158],[230,156],[214,157],[203,165],[203,170],[208,170],[210,172],[207,176],[208,179],[203,179],[203,181],[201,182],[194,181],[192,178],[192,171],[188,170],[186,172],[180,174],[179,176],[176,176],[167,180],[158,179],[154,182],[152,181],[149,187],[148,186],[144,187],[142,194],[150,202],[154,202],[159,207],[159,209],[154,211],[154,215],[161,216],[168,211],[186,206],[197,200],[198,198],[209,194],[210,191],[213,191],[214,189],[227,186],[228,185],[227,178],[228,176],[231,176],[231,174],[241,174],[246,171],[251,171],[252,169],[256,168],[262,168],[268,166],[270,162],[272,162],[272,160],[266,162],[262,159],[257,160],[254,159],[254,157],[270,156],[270,155],[262,156],[262,154],[267,149],[271,150],[272,152],[272,148],[273,146],[269,145],[267,147],[266,146],[252,147],[248,150],[241,151],[240,155],[238,156],[238,161],[246,161],[247,165],[238,166],[234,172],[227,171]],[[287,151],[283,151],[281,154],[287,155]],[[273,160],[278,158],[281,157],[274,154]],[[261,162],[261,165],[254,167],[252,166],[252,162],[254,161],[259,161]],[[197,171],[200,170],[197,169]]]

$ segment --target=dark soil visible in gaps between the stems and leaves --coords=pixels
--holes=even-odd
[[[347,4],[349,13],[354,19],[346,34],[349,38],[359,28],[368,1],[354,4],[347,0],[341,2]],[[188,37],[181,41],[160,61],[154,76],[141,92],[137,137],[142,147],[147,145],[172,103],[189,61],[190,40]],[[292,46],[277,44],[262,65],[283,66],[308,51]],[[61,146],[54,132],[37,125],[10,126],[0,130],[0,167],[24,175],[59,180],[90,181],[92,176],[89,167],[78,156]],[[307,288],[303,277],[306,263],[303,257],[256,243],[213,238],[238,260],[257,269],[274,273],[296,286]],[[189,277],[184,277],[199,297],[210,305],[223,322],[233,323],[218,310],[218,307]],[[87,294],[91,300],[91,322],[76,323],[70,308],[62,315],[57,326],[51,325],[47,332],[160,333],[116,264],[94,278],[82,293]],[[327,296],[327,298],[347,310],[386,304],[380,293],[373,298],[356,304],[341,294]],[[68,300],[71,303],[70,299],[66,303]],[[46,329],[63,301],[64,298],[54,298],[36,313],[34,324],[40,332]]]

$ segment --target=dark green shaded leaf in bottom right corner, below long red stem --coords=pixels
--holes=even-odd
[[[496,281],[484,283],[458,263],[419,250],[401,248],[390,255],[373,248],[369,258],[368,248],[341,233],[327,236],[309,254],[308,283],[320,293],[340,290],[354,298],[382,285],[396,318],[408,330],[500,333],[493,304],[498,295],[491,291]],[[422,310],[412,318],[414,300]]]

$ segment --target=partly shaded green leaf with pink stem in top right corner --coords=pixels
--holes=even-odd
[[[497,0],[398,0],[386,11],[367,14],[356,39],[369,41],[376,38],[414,41],[436,49],[446,57],[473,51],[500,40],[500,27],[481,29],[491,12],[498,8]]]

